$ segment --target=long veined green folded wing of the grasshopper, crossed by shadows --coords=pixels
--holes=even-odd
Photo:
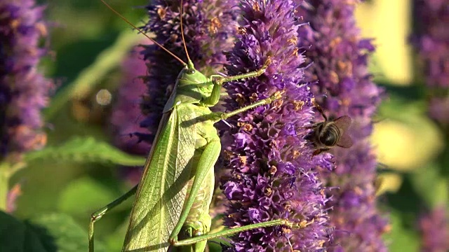
[[[122,251],[167,251],[170,245],[168,237],[184,205],[196,141],[195,125],[183,127],[180,123],[191,119],[194,111],[180,113],[179,108],[164,113],[159,123]]]

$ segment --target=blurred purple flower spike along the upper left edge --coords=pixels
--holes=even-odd
[[[46,48],[43,7],[32,0],[0,3],[0,160],[46,144],[41,110],[53,82],[37,70]]]

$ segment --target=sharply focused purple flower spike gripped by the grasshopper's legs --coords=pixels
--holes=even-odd
[[[232,237],[236,251],[325,251],[330,232],[323,210],[327,198],[315,167],[333,167],[329,156],[313,158],[304,137],[313,120],[309,86],[304,82],[304,57],[298,51],[294,1],[241,1],[237,42],[228,53],[229,76],[260,69],[258,78],[227,83],[228,111],[276,91],[283,98],[269,106],[228,120],[222,140],[229,155],[230,175],[222,178],[229,209],[225,225],[237,226],[279,218],[301,227],[275,226],[248,230]],[[229,132],[231,131],[231,132]]]

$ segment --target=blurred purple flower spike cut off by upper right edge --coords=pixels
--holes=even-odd
[[[449,125],[449,1],[415,0],[416,29],[411,42],[424,66],[429,115]]]

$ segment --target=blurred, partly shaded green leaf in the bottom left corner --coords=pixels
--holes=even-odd
[[[22,222],[0,212],[0,223],[0,251],[88,251],[86,230],[65,214],[42,214]],[[95,251],[106,249],[96,242]]]

